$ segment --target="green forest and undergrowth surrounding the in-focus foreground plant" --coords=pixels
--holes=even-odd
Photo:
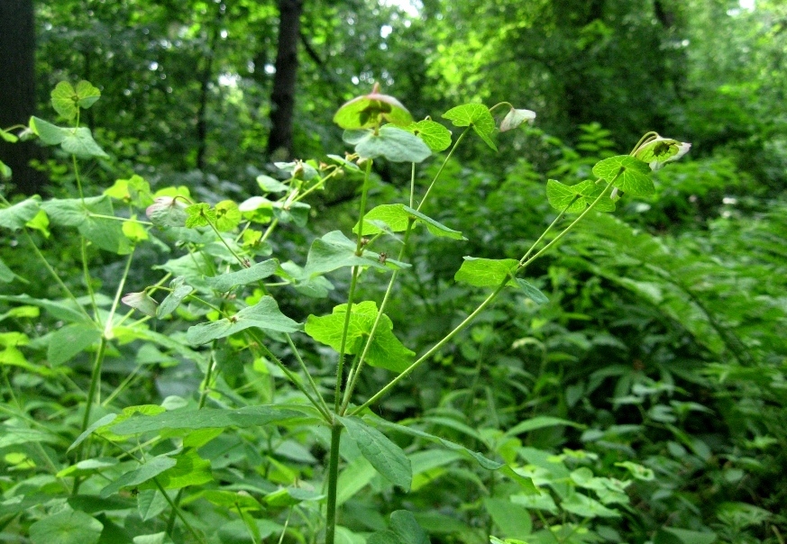
[[[207,465],[179,481],[163,465],[142,478],[113,449],[121,437],[108,431],[104,442],[86,442],[92,457],[67,451],[87,431],[80,422],[90,415],[93,361],[104,340],[87,335],[74,352],[53,348],[73,340],[58,333],[76,325],[64,326],[62,308],[50,302],[63,299],[67,287],[103,293],[108,307],[124,267],[126,292],[156,284],[162,271],[182,270],[166,264],[166,244],[142,243],[139,233],[133,239],[124,229],[139,242],[132,262],[100,240],[80,241],[63,228],[74,224],[58,224],[51,213],[52,224],[41,225],[32,217],[19,222],[9,210],[34,194],[63,202],[83,190],[116,198],[134,176],[151,195],[185,186],[195,202],[243,202],[270,190],[260,178],[297,179],[297,159],[314,159],[309,168],[323,171],[327,154],[349,151],[334,113],[379,83],[416,120],[429,115],[454,131],[441,114],[458,104],[507,101],[537,114],[513,134],[496,135],[497,152],[480,139],[463,142],[435,185],[426,213],[461,226],[468,240],[416,231],[407,247],[416,273],[399,277],[386,314],[416,353],[482,298],[477,285],[454,281],[462,257],[518,258],[523,240],[538,238],[554,219],[547,179],[589,177],[597,161],[630,150],[646,131],[692,147],[654,173],[654,195],[621,200],[613,215],[592,214],[528,268],[528,281],[548,301],[504,295],[374,406],[391,422],[521,468],[540,494],[453,449],[423,449],[421,439],[389,429],[415,479],[407,492],[395,487],[353,463],[360,454],[346,446],[336,538],[783,544],[785,31],[787,6],[777,0],[4,0],[0,129],[27,126],[31,115],[56,122],[52,89],[87,80],[101,97],[77,122],[105,151],[76,169],[68,152],[35,139],[0,141],[8,204],[0,209],[4,539],[324,538],[315,520],[325,515],[325,496],[317,493],[330,445],[325,430],[287,422],[195,439],[197,453],[182,458]],[[435,154],[418,168],[432,176],[443,159]],[[288,161],[296,166],[274,166]],[[371,205],[406,202],[410,173],[409,165],[375,160]],[[349,235],[358,221],[359,179],[348,166],[347,175],[308,195],[302,215],[271,212],[269,225],[279,226],[270,240],[265,234],[258,255],[303,264],[306,248],[325,231]],[[398,253],[393,237],[386,243],[389,255]],[[293,289],[294,269],[292,277],[279,274],[290,282],[278,299],[288,316],[304,322],[347,303],[347,269],[322,290]],[[378,276],[364,277],[365,296],[384,287]],[[178,339],[204,315],[184,305],[151,325],[149,336]],[[336,354],[301,336],[304,376],[332,393]],[[294,349],[273,341],[283,346],[273,349],[279,357]],[[108,349],[100,409],[86,423],[133,405],[299,402],[272,358],[252,356],[248,345],[215,347],[207,367],[215,362],[217,374],[205,376],[190,352],[152,343],[137,337]],[[366,398],[388,381],[374,370],[358,385]],[[175,440],[169,432],[159,439]],[[162,448],[146,452],[162,456]],[[144,487],[161,475],[169,477],[169,492]],[[62,482],[75,479],[85,482],[85,494],[79,484],[64,493]],[[121,482],[114,502],[85,498],[97,498],[89,491],[96,481]],[[314,493],[303,492],[302,482],[312,482]],[[224,494],[239,490],[254,501]],[[401,529],[412,527],[391,515],[403,511],[412,512],[406,519],[417,530]]]

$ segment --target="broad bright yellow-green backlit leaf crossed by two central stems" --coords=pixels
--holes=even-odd
[[[350,324],[347,331],[345,351],[348,354],[360,353],[366,339],[371,333],[371,327],[377,318],[377,304],[365,301],[352,305]],[[336,351],[342,347],[342,333],[344,320],[347,314],[347,304],[334,307],[330,315],[317,317],[309,315],[305,326],[306,333],[320,343],[326,344]],[[371,347],[367,356],[367,363],[372,367],[386,368],[392,372],[402,372],[413,361],[415,352],[405,348],[393,333],[393,322],[384,313],[380,317],[380,324],[374,333]]]

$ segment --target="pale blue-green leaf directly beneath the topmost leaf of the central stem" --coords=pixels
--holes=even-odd
[[[361,157],[385,157],[393,162],[421,162],[432,150],[412,132],[385,125],[375,133],[371,129],[344,131],[343,141],[355,146]]]

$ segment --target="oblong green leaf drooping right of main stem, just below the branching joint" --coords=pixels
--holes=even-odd
[[[410,459],[401,448],[380,431],[358,418],[337,417],[336,419],[342,422],[347,434],[355,441],[363,457],[375,470],[392,484],[398,485],[405,491],[410,490],[413,471],[410,467]]]

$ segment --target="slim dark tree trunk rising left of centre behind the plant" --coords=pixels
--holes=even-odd
[[[297,82],[297,44],[300,41],[302,0],[279,0],[279,50],[270,95],[268,153],[292,157],[292,116]],[[282,157],[283,158],[283,157]]]

